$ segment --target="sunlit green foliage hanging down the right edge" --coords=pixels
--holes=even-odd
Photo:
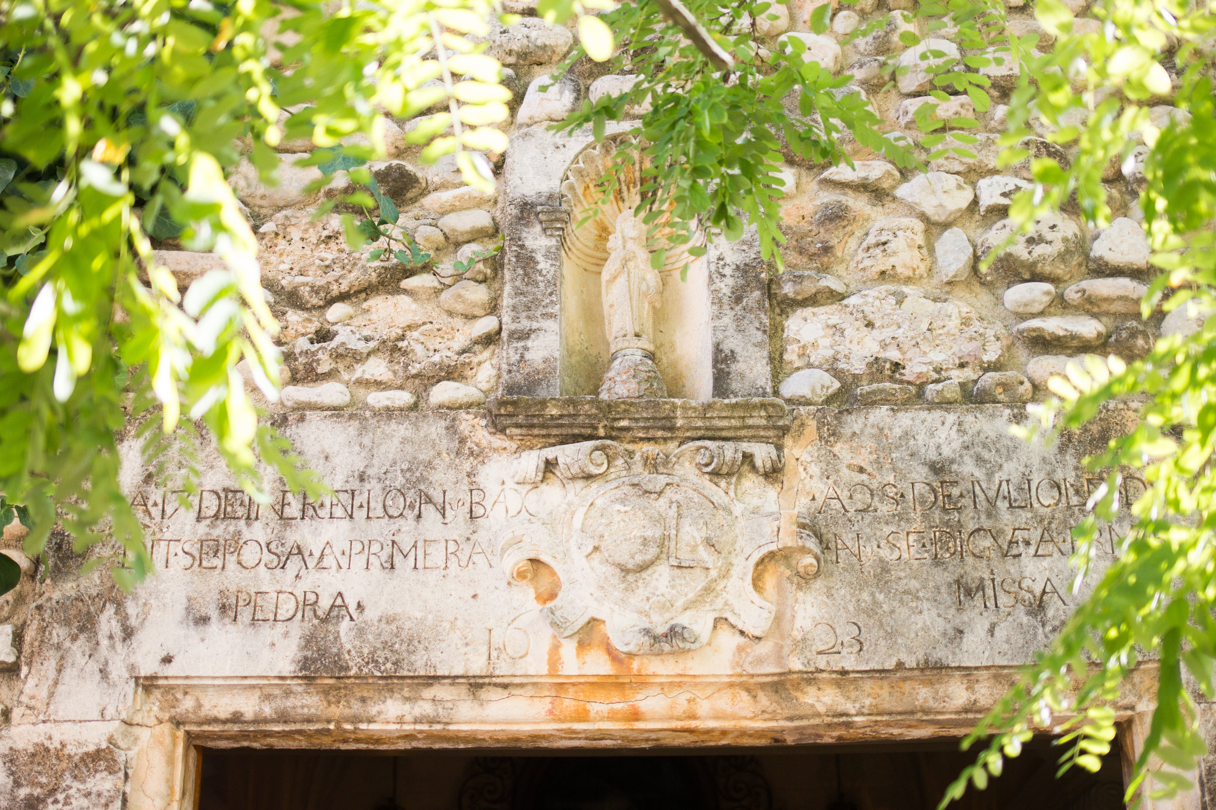
[[[966,16],[979,7],[959,10]],[[1003,757],[1017,755],[1035,729],[1064,733],[1062,771],[1097,770],[1115,736],[1110,703],[1145,657],[1156,659],[1156,709],[1127,799],[1192,788],[1188,772],[1206,752],[1183,673],[1214,696],[1216,321],[1209,316],[1216,311],[1216,15],[1206,4],[1169,0],[1099,0],[1091,12],[1098,24],[1082,26],[1058,0],[1038,0],[1036,18],[1055,38],[1054,49],[1038,53],[1026,38],[1009,39],[1019,72],[1000,141],[1002,165],[1030,157],[1023,140],[1035,125],[1071,152],[1065,165],[1051,157],[1030,162],[1034,187],[1014,197],[1009,215],[1029,228],[1045,213],[1069,206],[1088,226],[1104,227],[1111,211],[1103,175],[1121,165],[1139,191],[1150,261],[1161,271],[1142,315],[1188,307],[1197,330],[1159,339],[1130,364],[1115,356],[1070,363],[1066,379],[1049,383],[1057,396],[1032,408],[1038,421],[1028,435],[1049,438],[1081,426],[1110,400],[1142,403],[1138,427],[1090,461],[1105,471],[1105,483],[1074,529],[1076,588],[1093,568],[1099,521],[1126,506],[1119,503],[1124,472],[1139,470],[1149,489],[1130,505],[1131,531],[1092,595],[964,741],[989,738],[942,806],[968,782],[983,788],[989,775],[1000,775]],[[1154,123],[1153,104],[1172,106],[1169,120]]]

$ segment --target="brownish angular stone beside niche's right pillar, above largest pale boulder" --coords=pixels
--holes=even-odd
[[[854,234],[863,232],[873,219],[868,206],[834,194],[786,205],[781,209],[786,261],[831,270],[844,257]]]

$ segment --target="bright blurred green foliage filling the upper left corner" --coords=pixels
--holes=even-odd
[[[257,499],[268,469],[291,488],[320,486],[259,426],[236,369],[247,361],[277,400],[278,324],[225,170],[243,141],[274,182],[275,146],[308,137],[322,183],[350,170],[395,221],[358,166],[384,153],[383,111],[446,104],[409,140],[423,160],[455,153],[466,181],[488,187],[482,152],[506,147],[495,125],[510,92],[475,40],[495,13],[489,0],[0,1],[0,494],[28,509],[28,554],[58,521],[78,551],[118,542],[103,556],[119,584],[147,573],[118,480],[129,420],[154,415],[165,434],[202,420]],[[355,134],[368,145],[344,143]],[[347,219],[351,240],[371,238]],[[152,251],[170,236],[226,270],[179,290]]]

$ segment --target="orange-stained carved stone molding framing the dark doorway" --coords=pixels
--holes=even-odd
[[[711,749],[962,737],[1019,672],[137,678],[116,742],[134,752],[129,810],[193,810],[199,746]],[[1114,706],[1120,721],[1154,706],[1156,678],[1153,662],[1132,673]],[[625,704],[637,716],[621,719]]]

